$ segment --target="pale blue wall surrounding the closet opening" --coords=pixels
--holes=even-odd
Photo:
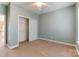
[[[25,10],[24,8],[21,8],[15,3],[10,3],[10,8],[9,8],[9,21],[8,21],[8,44],[9,46],[15,46],[18,44],[18,19],[19,15],[29,17],[29,38],[30,40],[37,39],[37,22],[38,22],[38,15]]]

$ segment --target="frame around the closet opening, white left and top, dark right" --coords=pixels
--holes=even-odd
[[[22,16],[22,15],[18,15],[18,28],[19,28],[19,18],[20,17],[23,17],[26,19],[26,22],[27,22],[27,40],[26,42],[29,42],[29,17],[26,17],[26,16]],[[18,29],[18,45],[19,45],[19,29]]]

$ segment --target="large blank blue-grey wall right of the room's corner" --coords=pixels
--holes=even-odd
[[[75,6],[39,17],[39,37],[75,44]]]

